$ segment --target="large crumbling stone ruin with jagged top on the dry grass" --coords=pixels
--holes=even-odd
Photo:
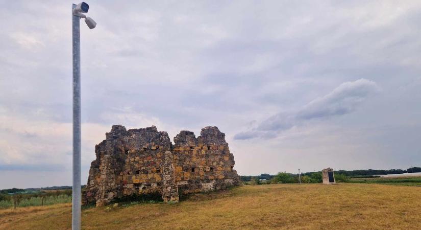
[[[172,145],[155,126],[126,130],[113,125],[95,146],[82,203],[103,206],[133,195],[161,194],[164,202],[179,195],[225,189],[240,184],[225,134],[205,127],[199,137],[181,131]]]

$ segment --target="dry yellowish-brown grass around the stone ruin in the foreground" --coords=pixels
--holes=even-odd
[[[178,204],[82,211],[83,229],[419,229],[421,188],[365,183],[242,186]],[[71,205],[0,210],[0,229],[70,229]]]

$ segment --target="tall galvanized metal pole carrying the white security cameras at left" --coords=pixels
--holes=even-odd
[[[73,42],[73,187],[71,206],[71,229],[81,229],[81,45],[80,17],[72,17]]]

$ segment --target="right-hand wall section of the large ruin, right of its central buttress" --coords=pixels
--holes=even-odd
[[[205,127],[197,139],[193,132],[181,131],[174,138],[176,182],[183,193],[224,189],[238,185],[234,155],[225,134],[217,127]]]

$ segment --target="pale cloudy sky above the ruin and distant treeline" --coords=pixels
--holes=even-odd
[[[114,124],[226,134],[239,175],[421,166],[419,1],[89,1],[82,183]],[[71,185],[68,1],[0,0],[0,189]]]

